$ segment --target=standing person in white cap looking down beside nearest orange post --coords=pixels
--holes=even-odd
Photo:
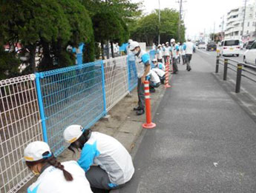
[[[150,58],[148,53],[140,49],[140,45],[137,41],[132,41],[130,44],[130,50],[139,59],[137,64],[137,76],[138,76],[138,106],[134,108],[137,111],[137,115],[142,115],[145,112],[145,95],[144,95],[144,81],[146,75],[150,71]]]

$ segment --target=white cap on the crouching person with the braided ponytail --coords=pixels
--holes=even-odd
[[[49,152],[49,154],[43,155],[45,152]],[[48,144],[39,140],[29,143],[24,149],[24,159],[26,161],[42,160],[43,158],[50,158],[51,155]]]

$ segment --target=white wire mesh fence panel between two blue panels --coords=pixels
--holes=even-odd
[[[127,56],[104,61],[107,111],[128,94]]]

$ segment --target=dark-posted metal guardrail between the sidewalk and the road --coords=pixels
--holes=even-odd
[[[217,55],[216,68],[215,68],[216,73],[219,72],[219,65],[223,65],[223,67],[224,67],[223,68],[223,81],[227,80],[228,70],[231,70],[232,72],[237,74],[236,86],[235,86],[236,93],[240,92],[242,76],[244,78],[247,78],[249,81],[253,81],[256,83],[256,72],[252,72],[250,70],[246,70],[243,68],[243,67],[250,67],[250,68],[256,70],[256,67],[253,65],[245,64],[240,61],[235,61],[233,59]],[[248,74],[246,74],[246,73],[248,73]],[[249,75],[252,75],[253,78],[250,77]]]

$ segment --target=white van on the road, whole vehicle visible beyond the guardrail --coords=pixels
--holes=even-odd
[[[220,55],[237,55],[240,53],[239,39],[228,39],[221,41]]]

